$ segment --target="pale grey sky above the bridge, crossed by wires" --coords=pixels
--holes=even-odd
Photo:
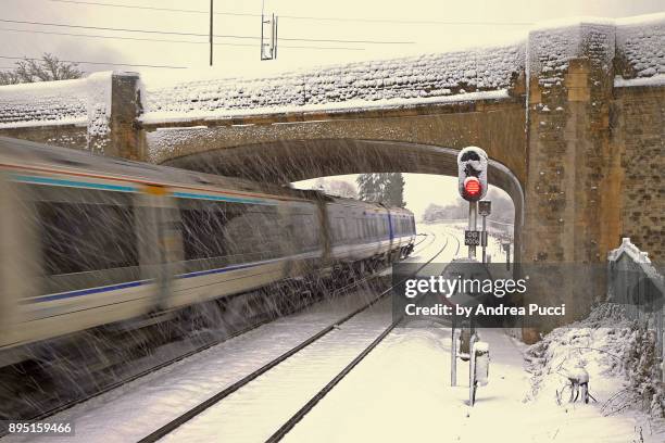
[[[83,0],[84,3],[86,0]],[[166,9],[208,11],[208,0],[87,0],[93,3],[138,5]],[[2,20],[30,21],[83,26],[171,33],[208,34],[205,13],[126,9],[93,4],[76,4],[53,0],[0,0]],[[215,0],[215,11],[260,14],[261,0]],[[332,2],[305,0],[266,0],[266,12],[275,12],[279,20],[280,49],[276,62],[263,62],[259,67],[259,40],[217,38],[221,43],[247,46],[216,46],[215,69],[223,73],[269,68],[292,68],[303,64],[336,63],[359,59],[382,59],[399,54],[437,52],[453,48],[501,43],[526,35],[528,25],[538,21],[575,15],[628,16],[664,10],[662,0],[337,0]],[[455,25],[399,24],[297,20],[289,16],[339,18],[371,18],[440,22],[499,22],[516,25]],[[215,15],[215,34],[258,37],[260,17]],[[18,33],[41,30],[85,34],[105,37],[154,38],[187,40],[198,43],[114,40],[48,34]],[[55,53],[63,59],[108,61],[134,64],[159,64],[190,67],[208,65],[204,36],[159,35],[111,31],[101,29],[64,28],[55,26],[0,23],[0,55],[38,56],[41,52]],[[340,42],[305,42],[288,38],[413,41],[413,45],[371,45]],[[355,50],[325,50],[288,48],[288,46],[346,47]],[[0,60],[0,66],[11,66]],[[87,71],[109,66],[81,65]],[[164,72],[159,69],[158,72]]]

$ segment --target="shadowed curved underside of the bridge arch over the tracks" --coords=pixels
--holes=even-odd
[[[480,147],[482,148],[482,147]],[[163,162],[164,165],[252,180],[292,182],[363,173],[457,175],[459,149],[386,140],[280,140],[212,149]],[[517,176],[490,159],[488,180],[504,190],[515,207],[515,261],[520,258],[525,193]],[[431,190],[437,192],[437,190]]]

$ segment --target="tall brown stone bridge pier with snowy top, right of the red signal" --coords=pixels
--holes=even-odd
[[[529,35],[524,262],[561,265],[549,267],[560,275],[531,284],[536,302],[566,303],[566,321],[604,296],[604,273],[595,270],[620,237],[620,157],[610,126],[615,33],[581,23]],[[586,267],[586,277],[569,265]],[[553,281],[559,290],[544,291]]]

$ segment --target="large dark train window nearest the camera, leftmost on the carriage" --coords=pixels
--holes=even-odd
[[[68,189],[49,199],[53,190],[43,191],[34,203],[47,276],[138,266],[130,194]]]

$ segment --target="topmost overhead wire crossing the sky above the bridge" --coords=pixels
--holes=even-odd
[[[159,7],[140,7],[134,4],[120,4],[98,1],[78,1],[78,0],[48,0],[57,3],[84,4],[91,7],[108,7],[108,8],[125,8],[149,11],[165,11],[165,12],[186,12],[193,14],[209,14],[204,10],[176,9],[176,8],[159,8]],[[246,17],[260,17],[261,14],[252,14],[248,12],[215,12],[214,15],[231,15]],[[279,15],[279,18],[315,21],[315,22],[356,22],[356,23],[387,23],[387,24],[403,24],[403,25],[467,25],[467,26],[529,26],[534,22],[474,22],[474,21],[437,21],[437,20],[398,20],[398,18],[364,18],[364,17],[326,17],[326,16],[306,16],[306,15]]]

